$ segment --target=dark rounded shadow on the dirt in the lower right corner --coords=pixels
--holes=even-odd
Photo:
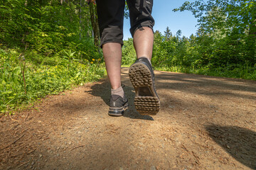
[[[238,162],[256,169],[256,132],[236,126],[207,125],[210,137]]]

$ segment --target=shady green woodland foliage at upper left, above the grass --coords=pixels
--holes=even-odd
[[[4,45],[44,55],[68,49],[87,60],[97,55],[86,1],[0,0],[0,4],[0,42]]]

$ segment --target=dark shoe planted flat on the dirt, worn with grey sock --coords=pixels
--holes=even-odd
[[[108,113],[109,115],[122,116],[124,115],[124,111],[127,110],[127,108],[128,100],[125,96],[124,98],[118,95],[112,95],[110,97],[110,111]]]

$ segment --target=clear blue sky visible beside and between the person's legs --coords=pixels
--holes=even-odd
[[[197,18],[191,12],[173,12],[174,8],[181,6],[186,0],[154,0],[152,16],[155,20],[154,30],[159,30],[164,34],[164,30],[169,26],[169,29],[176,34],[181,30],[182,36],[189,37],[192,33],[195,34],[197,27]],[[188,0],[191,1],[191,0]],[[124,40],[131,38],[129,33],[129,20],[124,19]]]

